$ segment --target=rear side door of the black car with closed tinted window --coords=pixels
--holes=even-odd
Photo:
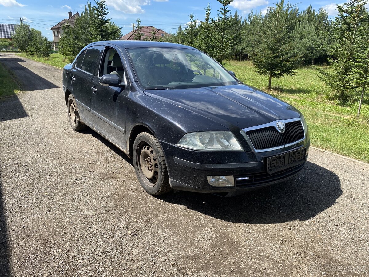
[[[72,69],[72,89],[80,118],[93,127],[91,113],[91,83],[96,72],[97,61],[103,46],[92,46],[83,51]]]

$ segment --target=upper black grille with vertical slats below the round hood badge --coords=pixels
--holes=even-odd
[[[274,148],[301,140],[304,128],[300,120],[286,123],[284,133],[279,133],[274,126],[247,131],[255,150]]]

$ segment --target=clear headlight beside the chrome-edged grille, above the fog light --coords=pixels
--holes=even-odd
[[[231,132],[188,133],[177,145],[194,150],[243,151]]]

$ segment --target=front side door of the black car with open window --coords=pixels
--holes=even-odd
[[[106,74],[118,75],[125,87],[103,86],[99,81]],[[106,47],[101,58],[97,76],[92,81],[91,112],[94,127],[121,149],[126,149],[125,139],[125,103],[130,85],[127,82],[125,69],[118,51]]]

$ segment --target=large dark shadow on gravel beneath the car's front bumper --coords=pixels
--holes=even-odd
[[[341,194],[339,177],[308,161],[289,181],[235,197],[178,192],[160,198],[228,222],[269,224],[313,218],[337,203]]]

